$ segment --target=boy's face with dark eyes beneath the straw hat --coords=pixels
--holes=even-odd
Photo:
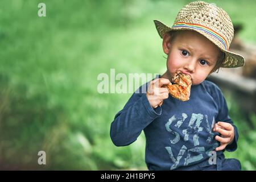
[[[196,31],[182,30],[171,39],[163,36],[163,50],[167,57],[168,78],[176,71],[191,75],[192,85],[200,84],[212,71],[220,56],[220,49]]]

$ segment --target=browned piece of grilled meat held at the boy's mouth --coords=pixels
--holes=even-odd
[[[181,101],[188,101],[192,85],[191,76],[177,71],[172,77],[172,83],[165,86],[171,96]]]

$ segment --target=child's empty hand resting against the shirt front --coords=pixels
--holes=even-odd
[[[220,147],[215,148],[216,151],[224,150],[234,140],[234,127],[230,123],[218,122],[214,125],[213,131],[221,134],[221,137],[215,137],[221,144]]]

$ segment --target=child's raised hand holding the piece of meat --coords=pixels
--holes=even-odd
[[[171,84],[170,80],[166,78],[158,78],[152,80],[148,85],[146,93],[147,100],[153,108],[158,107],[162,104],[163,100],[169,97],[167,88],[161,88],[163,85]]]

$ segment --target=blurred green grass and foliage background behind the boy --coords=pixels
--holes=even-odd
[[[0,1],[0,169],[146,169],[144,135],[115,147],[110,123],[131,94],[97,93],[97,76],[160,73],[166,63],[153,19],[171,24],[191,1]],[[255,1],[207,1],[256,42]],[[240,131],[238,158],[256,169],[256,116],[228,97]],[[47,165],[38,165],[38,151]]]

